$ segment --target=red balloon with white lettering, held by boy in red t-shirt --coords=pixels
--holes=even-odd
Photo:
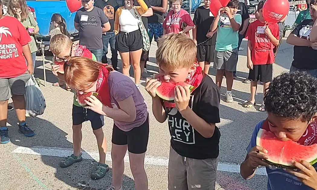
[[[288,0],[267,0],[263,5],[263,17],[268,23],[281,21],[288,11]]]

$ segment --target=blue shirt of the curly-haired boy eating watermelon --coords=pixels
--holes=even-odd
[[[256,136],[262,127],[262,124],[265,120],[260,121],[253,133],[250,140],[250,143],[247,147],[247,152],[256,146]],[[313,165],[313,167],[317,170],[317,163]],[[268,174],[268,190],[313,190],[312,188],[304,185],[298,178],[288,172],[284,171],[282,168],[271,169],[266,167],[266,172]]]

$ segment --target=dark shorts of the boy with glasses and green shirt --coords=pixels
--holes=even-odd
[[[100,129],[105,124],[103,115],[81,106],[73,105],[72,117],[73,125],[79,125],[85,121],[90,121],[93,130]]]

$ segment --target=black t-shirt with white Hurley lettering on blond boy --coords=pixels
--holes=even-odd
[[[220,89],[208,76],[191,93],[189,107],[208,123],[220,123]],[[205,138],[180,114],[176,107],[165,108],[171,134],[171,147],[181,156],[193,159],[217,158],[220,131],[215,127],[212,137]]]

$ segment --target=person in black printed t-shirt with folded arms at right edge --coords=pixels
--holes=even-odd
[[[317,5],[317,0],[311,0],[309,4]],[[317,77],[317,42],[311,42],[309,35],[314,22],[317,19],[316,11],[309,7],[312,19],[303,20],[288,36],[286,43],[294,45],[294,60],[290,71],[306,71]]]

